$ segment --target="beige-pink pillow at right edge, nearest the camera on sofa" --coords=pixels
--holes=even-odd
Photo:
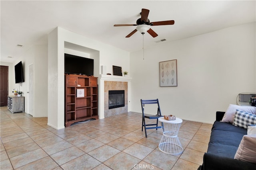
[[[235,159],[256,164],[256,134],[244,135],[234,156]]]

